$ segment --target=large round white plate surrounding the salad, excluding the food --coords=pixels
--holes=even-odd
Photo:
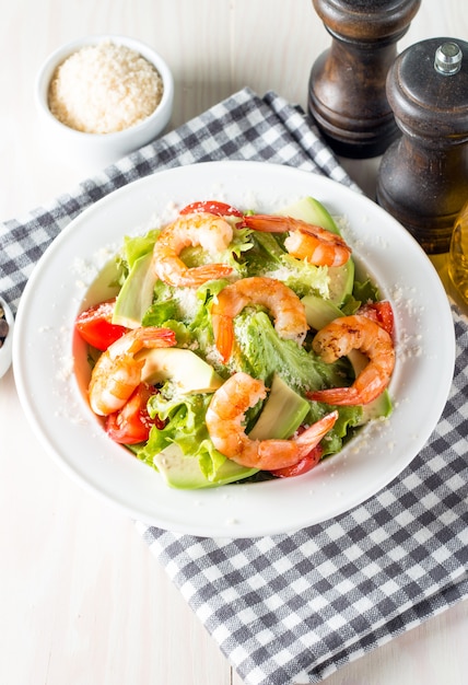
[[[299,478],[183,490],[167,487],[100,427],[87,403],[87,352],[74,336],[74,321],[86,306],[115,294],[109,267],[125,235],[144,234],[155,225],[155,217],[171,220],[177,208],[214,194],[214,199],[233,207],[272,213],[312,195],[340,217],[356,264],[394,307],[397,363],[389,392],[395,409],[388,421],[364,427],[339,454]],[[86,275],[78,264],[86,264]],[[50,301],[54,306],[42,306]],[[375,202],[291,166],[207,162],[127,184],[77,217],[27,281],[13,348],[25,417],[69,475],[152,525],[209,537],[257,537],[349,511],[408,466],[444,408],[454,372],[455,335],[446,293],[428,256]],[[60,420],[51,421],[54,415]]]

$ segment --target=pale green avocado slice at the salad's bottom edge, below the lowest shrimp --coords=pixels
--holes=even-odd
[[[154,465],[169,487],[180,490],[219,487],[258,473],[258,468],[247,468],[226,458],[218,469],[215,478],[208,480],[200,471],[198,460],[185,456],[175,443],[167,445],[160,454],[156,454]]]

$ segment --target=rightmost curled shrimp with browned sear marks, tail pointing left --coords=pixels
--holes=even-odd
[[[350,387],[313,391],[307,394],[311,399],[330,405],[365,405],[387,387],[395,367],[394,344],[391,336],[367,316],[336,318],[317,333],[312,346],[326,363],[352,349],[368,357],[368,363]]]

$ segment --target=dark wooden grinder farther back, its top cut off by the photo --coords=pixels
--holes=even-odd
[[[314,62],[308,111],[330,148],[342,156],[382,154],[399,131],[385,93],[396,43],[421,0],[313,0],[332,37]]]

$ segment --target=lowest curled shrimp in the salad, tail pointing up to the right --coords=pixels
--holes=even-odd
[[[320,442],[338,418],[338,411],[331,411],[290,440],[250,440],[243,426],[245,413],[266,396],[264,383],[241,371],[217,390],[208,407],[206,421],[214,446],[247,468],[293,466]]]

